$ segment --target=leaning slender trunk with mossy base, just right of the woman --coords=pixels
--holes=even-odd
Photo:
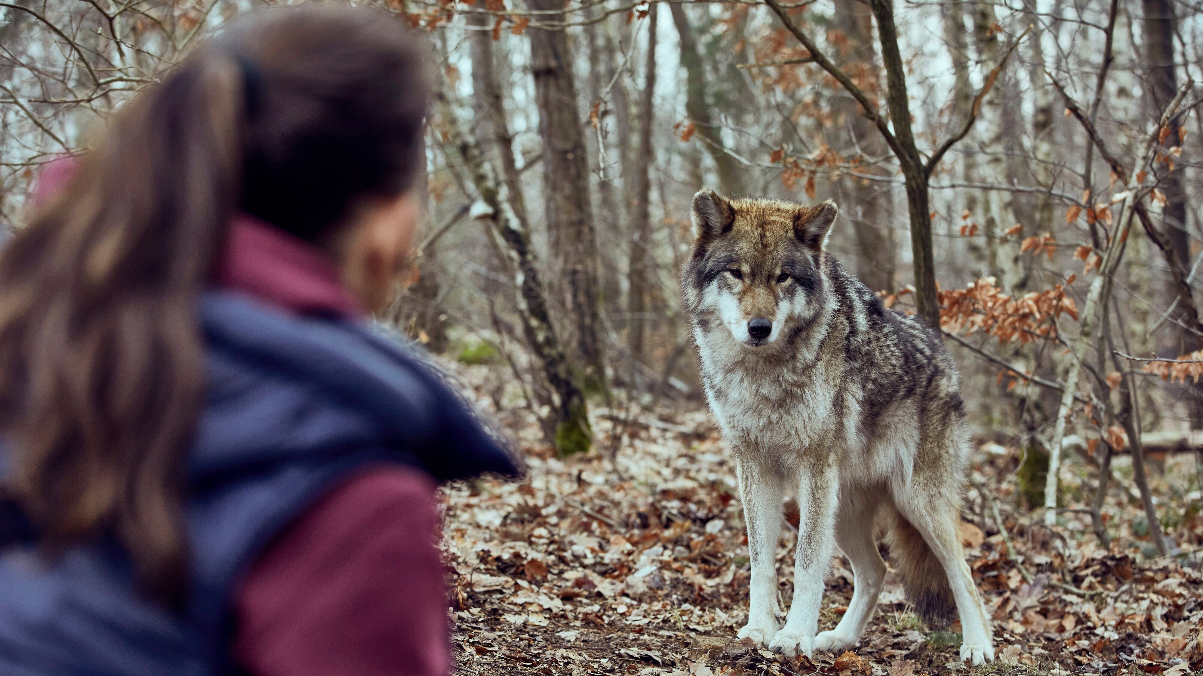
[[[435,91],[435,96],[439,113],[446,125],[449,141],[463,158],[480,200],[490,209],[485,220],[505,245],[505,254],[515,278],[514,284],[518,291],[515,300],[518,316],[522,319],[523,333],[531,351],[543,364],[544,376],[555,395],[556,450],[562,456],[587,451],[593,444],[593,433],[589,428],[585,395],[576,385],[576,379],[573,378],[573,369],[556,334],[556,327],[551,324],[551,316],[547,313],[547,293],[539,279],[539,268],[534,248],[531,245],[529,231],[522,226],[522,221],[514,213],[505,182],[498,179],[492,165],[481,150],[480,143],[468,134],[464,124],[455,114],[446,91],[440,88]]]

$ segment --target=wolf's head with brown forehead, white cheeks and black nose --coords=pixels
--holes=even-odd
[[[824,303],[822,266],[836,212],[831,201],[805,207],[700,190],[682,279],[695,322],[717,319],[735,340],[755,348],[810,321]]]

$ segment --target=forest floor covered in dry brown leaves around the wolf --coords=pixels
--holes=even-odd
[[[1103,548],[1085,514],[1063,511],[1050,529],[1015,506],[1020,451],[978,443],[961,530],[994,617],[995,663],[960,663],[959,624],[924,627],[893,571],[854,651],[787,659],[735,638],[747,612],[747,546],[733,464],[705,404],[599,415],[595,449],[562,461],[504,385],[508,372],[456,369],[528,463],[521,482],[443,490],[461,674],[1180,676],[1203,666],[1203,518],[1189,453],[1151,463],[1161,521],[1180,552],[1157,557],[1126,457],[1115,462],[1103,510],[1113,542]],[[1067,506],[1084,506],[1095,470],[1084,458],[1068,469]],[[792,539],[787,527],[777,553],[787,600]],[[820,630],[835,625],[851,595],[852,573],[837,556]]]

